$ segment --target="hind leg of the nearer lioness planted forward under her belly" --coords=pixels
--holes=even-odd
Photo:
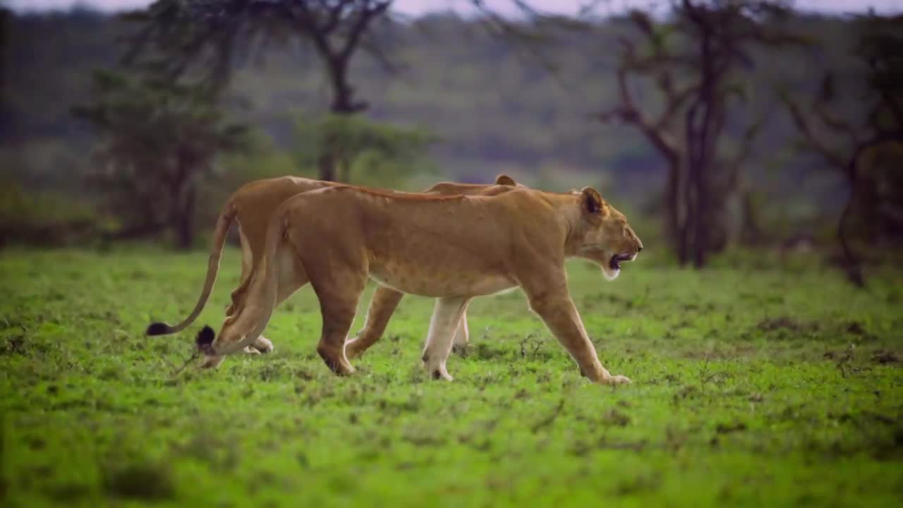
[[[366,282],[366,269],[336,267],[319,272],[317,278],[311,280],[320,300],[323,320],[317,353],[330,370],[339,375],[354,372],[345,356],[345,341]]]

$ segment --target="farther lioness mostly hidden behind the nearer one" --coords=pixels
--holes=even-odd
[[[235,309],[242,305],[247,285],[260,264],[261,256],[264,252],[264,240],[266,237],[266,223],[273,216],[273,213],[282,202],[298,193],[304,193],[311,190],[333,187],[340,183],[324,182],[321,180],[311,180],[309,178],[300,178],[296,176],[283,176],[279,178],[269,178],[265,180],[257,180],[255,182],[242,185],[235,193],[233,193],[226,205],[219,212],[216,227],[213,230],[213,238],[210,246],[210,255],[207,265],[207,278],[204,281],[204,287],[200,292],[198,303],[195,304],[191,314],[188,315],[178,325],[166,325],[165,323],[153,323],[147,327],[148,335],[164,335],[175,334],[182,331],[188,325],[197,319],[204,306],[207,304],[210,292],[217,279],[219,271],[219,258],[222,254],[223,245],[226,243],[226,236],[233,221],[238,223],[238,238],[241,244],[241,277],[239,278],[238,287],[232,291],[232,303],[226,310],[226,315],[232,315]],[[496,188],[497,186],[504,188]],[[496,177],[495,185],[492,184],[476,184],[476,183],[453,183],[440,182],[436,183],[424,193],[438,195],[452,194],[477,194],[477,193],[498,193],[507,187],[522,186],[515,182],[513,178],[506,174],[499,174]],[[277,304],[281,303],[285,298],[291,296],[294,289],[289,291],[287,288],[280,292]],[[379,287],[373,296],[373,302],[370,304],[367,321],[363,329],[358,334],[358,338],[349,343],[349,353],[357,355],[363,353],[370,345],[379,340],[380,335],[386,330],[386,324],[389,318],[395,312],[398,302],[401,301],[402,294],[388,287]],[[461,324],[455,336],[455,343],[464,345],[468,343],[469,334],[467,328],[466,315],[461,316]],[[250,343],[246,351],[247,353],[266,353],[273,350],[273,343],[264,336],[259,336]]]

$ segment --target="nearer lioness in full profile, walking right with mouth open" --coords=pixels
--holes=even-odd
[[[311,191],[276,210],[244,305],[219,335],[204,327],[198,344],[215,366],[264,331],[284,287],[310,282],[322,315],[317,353],[333,372],[354,372],[345,339],[372,278],[396,291],[436,297],[423,361],[434,378],[451,381],[445,362],[470,299],[519,286],[584,375],[625,383],[628,378],[602,367],[592,347],[568,294],[564,260],[589,259],[612,279],[641,249],[624,215],[590,187],[443,197],[351,186]]]

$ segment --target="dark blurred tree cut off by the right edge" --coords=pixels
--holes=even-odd
[[[847,275],[861,287],[865,279],[852,248],[849,227],[853,217],[863,219],[860,226],[865,225],[862,222],[871,223],[871,236],[903,235],[903,180],[899,172],[903,153],[903,16],[869,14],[861,16],[857,24],[859,39],[854,52],[862,69],[852,76],[852,82],[860,92],[854,108],[860,114],[842,110],[842,91],[850,94],[851,90],[838,89],[837,72],[833,70],[825,71],[811,100],[793,98],[787,91],[781,98],[801,137],[801,147],[818,155],[825,167],[840,174],[847,185],[837,239]],[[867,165],[863,164],[866,159]]]

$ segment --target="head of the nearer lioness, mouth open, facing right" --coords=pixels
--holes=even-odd
[[[580,191],[581,227],[574,231],[576,255],[602,268],[605,278],[613,280],[623,261],[632,261],[643,249],[643,242],[630,229],[624,214],[615,210],[591,187]]]

